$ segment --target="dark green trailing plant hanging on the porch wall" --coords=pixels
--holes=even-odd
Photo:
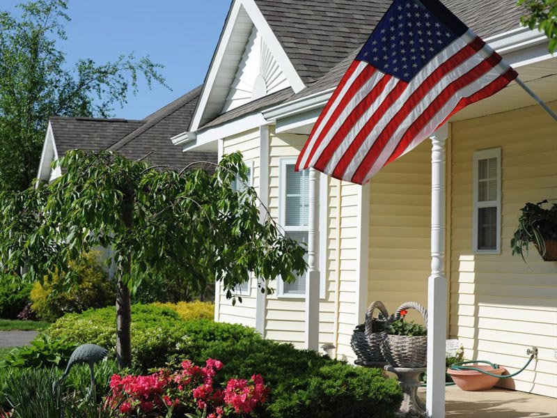
[[[551,208],[542,208],[547,200],[526,203],[521,208],[518,226],[510,240],[512,255],[519,254],[524,262],[524,251],[528,254],[530,242],[538,249],[544,261],[557,261],[557,203]]]

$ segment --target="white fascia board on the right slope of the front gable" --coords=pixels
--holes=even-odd
[[[248,13],[251,22],[253,22],[253,25],[256,26],[258,31],[260,31],[263,40],[267,44],[267,47],[269,47],[276,61],[278,62],[278,65],[280,65],[281,69],[283,70],[286,79],[288,79],[288,82],[292,87],[292,90],[294,90],[295,93],[298,93],[303,88],[305,88],[306,85],[304,84],[304,82],[301,81],[301,78],[294,68],[294,65],[292,65],[292,62],[290,62],[288,55],[286,55],[281,42],[278,42],[278,39],[276,39],[271,26],[269,26],[267,20],[265,20],[265,17],[263,17],[263,14],[256,5],[256,2],[254,0],[240,1],[242,2],[242,6],[244,6],[244,9]]]

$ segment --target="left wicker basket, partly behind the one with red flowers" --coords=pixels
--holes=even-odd
[[[366,330],[364,332],[354,330],[350,346],[356,353],[359,360],[364,362],[384,362],[385,358],[381,352],[381,334],[382,332],[372,332],[373,312],[379,309],[380,320],[386,320],[389,317],[385,305],[376,300],[372,302],[366,312]]]

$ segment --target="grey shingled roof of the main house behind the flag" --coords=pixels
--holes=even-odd
[[[297,94],[281,91],[221,114],[203,127],[287,100],[335,87],[391,0],[255,0],[306,84]],[[516,0],[444,0],[443,3],[483,38],[519,27]],[[290,96],[290,97],[289,97]]]

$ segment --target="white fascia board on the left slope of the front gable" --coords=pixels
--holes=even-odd
[[[219,68],[221,66],[224,52],[226,52],[226,47],[228,46],[228,42],[230,41],[230,36],[232,36],[232,31],[234,29],[234,23],[238,17],[238,13],[240,13],[240,6],[242,5],[242,0],[235,0],[232,8],[230,9],[230,14],[228,15],[228,19],[224,22],[224,29],[219,39],[219,43],[217,45],[217,49],[214,53],[214,58],[211,61],[209,66],[209,70],[207,72],[207,78],[205,79],[205,83],[203,84],[203,89],[201,90],[201,96],[199,98],[199,102],[197,104],[196,110],[194,111],[194,116],[191,118],[191,130],[195,131],[198,129],[199,124],[201,123],[201,118],[203,116],[203,112],[205,111],[205,106],[207,106],[207,101],[209,100],[209,96],[211,94],[214,81],[217,79],[217,74],[219,72]]]

